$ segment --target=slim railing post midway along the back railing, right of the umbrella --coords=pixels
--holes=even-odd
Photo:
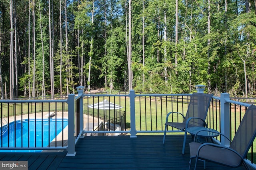
[[[135,125],[135,92],[134,90],[130,90],[130,116],[131,116],[130,137],[137,137],[136,125]]]

